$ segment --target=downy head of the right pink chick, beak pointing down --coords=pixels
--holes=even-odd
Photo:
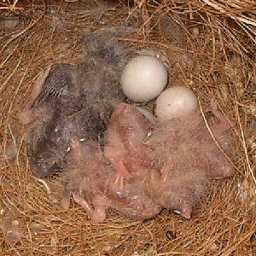
[[[162,174],[153,170],[148,172],[145,191],[161,207],[190,218],[193,207],[207,193],[207,177],[201,170],[191,170],[163,183]]]

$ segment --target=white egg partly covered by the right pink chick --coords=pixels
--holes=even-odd
[[[173,86],[164,90],[156,100],[155,114],[160,121],[178,118],[198,107],[192,90],[183,86]]]

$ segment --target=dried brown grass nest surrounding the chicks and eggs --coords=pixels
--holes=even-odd
[[[22,1],[23,2],[23,1]],[[232,4],[232,5],[231,5]],[[0,254],[3,255],[253,255],[255,214],[255,3],[252,1],[35,1],[1,2],[0,41]],[[182,43],[160,31],[171,16]],[[6,22],[4,17],[14,16]],[[17,18],[18,17],[18,22]],[[11,19],[10,19],[11,20]],[[106,25],[135,51],[153,49],[171,65],[170,85],[184,84],[201,102],[214,98],[237,135],[237,174],[215,181],[191,219],[168,211],[147,221],[114,212],[92,224],[72,203],[69,211],[49,199],[31,175],[23,126],[16,113],[39,70],[49,63],[78,63],[84,32]],[[246,29],[245,29],[246,28]],[[254,51],[253,51],[254,50]],[[186,53],[190,62],[181,55]],[[177,59],[173,61],[173,57]],[[150,103],[147,108],[153,108]],[[8,145],[12,145],[11,148]],[[6,148],[9,151],[6,151]],[[13,149],[12,149],[13,148]],[[15,156],[14,160],[10,160]],[[57,177],[45,180],[56,198]]]

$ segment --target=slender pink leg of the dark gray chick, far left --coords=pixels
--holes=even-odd
[[[33,109],[32,105],[37,99],[38,95],[40,94],[44,81],[49,75],[50,67],[48,67],[45,71],[42,71],[36,80],[31,95],[28,97],[27,101],[25,102],[22,110],[18,113],[18,118],[23,125],[27,125],[32,122],[33,119],[38,115],[39,110]]]

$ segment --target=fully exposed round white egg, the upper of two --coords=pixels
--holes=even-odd
[[[148,102],[159,96],[167,84],[167,70],[154,56],[139,55],[129,61],[122,73],[122,89],[131,101]]]

